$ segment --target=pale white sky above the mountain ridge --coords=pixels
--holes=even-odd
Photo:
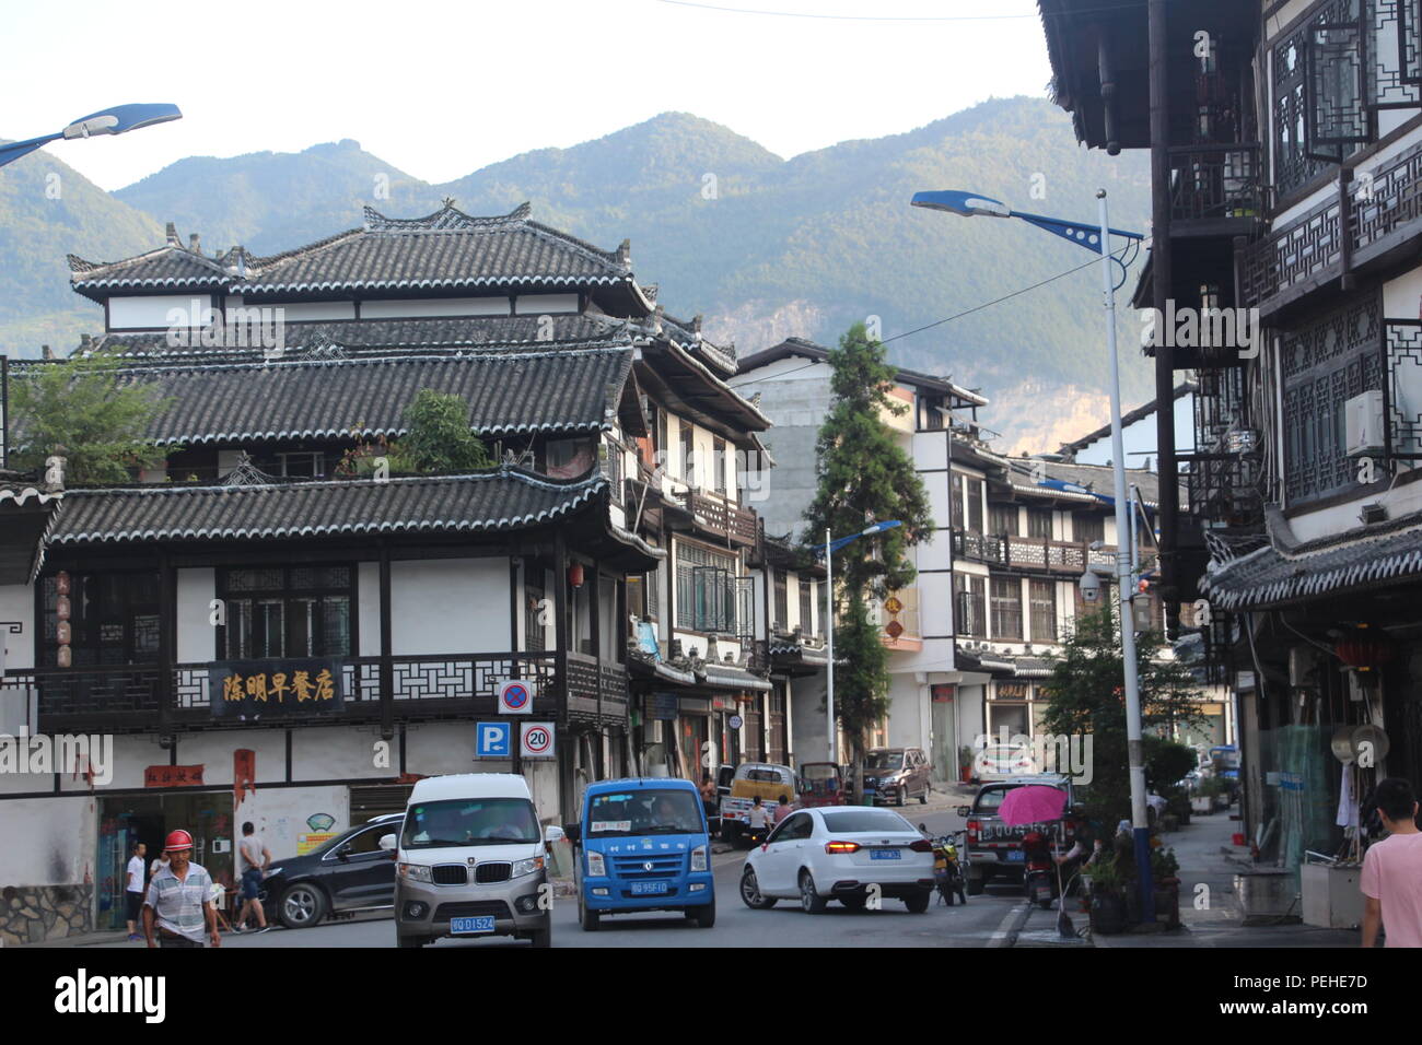
[[[745,14],[765,10],[799,16]],[[354,138],[429,182],[680,109],[781,156],[1051,75],[1034,0],[6,0],[0,138],[121,102],[183,119],[48,149],[105,189]]]

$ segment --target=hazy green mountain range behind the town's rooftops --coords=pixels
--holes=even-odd
[[[1088,152],[1061,109],[1022,97],[792,159],[665,112],[439,185],[351,139],[192,156],[112,193],[36,152],[0,169],[0,351],[33,357],[51,344],[64,354],[81,333],[100,333],[102,314],[70,290],[64,256],[141,253],[164,242],[165,222],[185,242],[201,233],[209,254],[237,243],[269,254],[360,225],[365,205],[418,216],[452,198],[466,213],[496,215],[529,200],[540,222],[600,246],[630,237],[637,277],[658,284],[667,311],[704,314],[708,337],[735,341],[742,355],[788,336],[833,344],[877,317],[893,361],[993,400],[983,422],[1004,449],[1054,449],[1102,424],[1108,370],[1091,256],[1022,222],[909,206],[916,191],[941,188],[1084,220],[1106,188],[1113,226],[1143,229],[1149,215],[1143,156]],[[1138,333],[1122,311],[1128,404],[1152,394]]]

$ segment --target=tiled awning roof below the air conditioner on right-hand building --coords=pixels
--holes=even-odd
[[[1384,587],[1422,576],[1422,513],[1293,547],[1214,562],[1200,590],[1216,610],[1254,610]]]

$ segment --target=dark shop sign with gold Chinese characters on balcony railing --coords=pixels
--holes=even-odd
[[[250,722],[340,714],[338,660],[218,661],[208,670],[212,717]]]

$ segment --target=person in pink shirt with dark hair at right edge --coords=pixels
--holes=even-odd
[[[1362,945],[1376,947],[1378,927],[1385,947],[1422,947],[1422,832],[1412,785],[1389,776],[1374,791],[1378,818],[1388,836],[1368,846],[1362,857]]]

